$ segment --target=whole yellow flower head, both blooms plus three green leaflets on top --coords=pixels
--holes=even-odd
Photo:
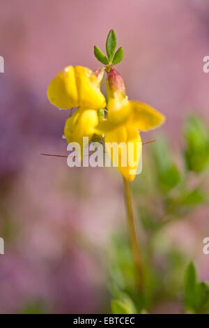
[[[141,156],[140,131],[160,126],[165,117],[150,105],[129,100],[123,77],[114,67],[123,59],[123,49],[116,53],[116,36],[109,32],[106,43],[107,57],[94,47],[95,57],[107,66],[93,70],[83,66],[67,66],[49,84],[47,95],[56,107],[69,109],[78,107],[65,123],[64,135],[68,143],[78,142],[81,148],[83,137],[91,140],[94,134],[104,137],[106,150],[119,172],[127,180],[133,180]],[[101,119],[101,109],[106,100],[100,91],[100,84],[107,72],[107,117]],[[111,147],[109,147],[111,144]],[[118,158],[114,156],[118,149]],[[125,158],[128,161],[125,162]],[[80,158],[82,161],[82,156]]]

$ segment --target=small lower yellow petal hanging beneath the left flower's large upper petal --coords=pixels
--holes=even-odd
[[[65,122],[64,135],[67,142],[78,142],[83,153],[83,149],[88,146],[88,142],[95,133],[98,121],[98,114],[95,110],[79,108]],[[88,137],[88,140],[84,140],[83,137]]]

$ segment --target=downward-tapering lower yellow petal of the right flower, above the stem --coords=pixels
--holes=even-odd
[[[120,126],[105,135],[105,149],[125,179],[135,177],[141,156],[141,137],[135,128]]]

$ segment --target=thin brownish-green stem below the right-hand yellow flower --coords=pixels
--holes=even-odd
[[[134,214],[132,209],[132,195],[130,188],[130,181],[123,178],[123,184],[125,189],[125,203],[127,208],[127,224],[130,232],[130,244],[132,248],[132,255],[135,262],[135,267],[137,271],[137,286],[139,291],[142,292],[144,288],[143,283],[143,263],[141,258],[141,251],[139,247],[139,241],[137,238],[136,227],[134,223]]]

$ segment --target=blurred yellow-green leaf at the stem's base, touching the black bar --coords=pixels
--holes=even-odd
[[[122,301],[114,299],[111,301],[111,311],[113,314],[137,314],[137,310],[129,297]]]

